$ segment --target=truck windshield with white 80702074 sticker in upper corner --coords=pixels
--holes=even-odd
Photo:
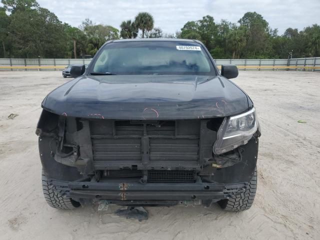
[[[128,41],[106,44],[91,73],[215,75],[202,46],[187,41]]]

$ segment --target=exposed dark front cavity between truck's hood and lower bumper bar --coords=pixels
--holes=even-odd
[[[146,183],[195,182],[201,177],[207,182],[227,182],[229,176],[219,174],[223,168],[255,165],[256,157],[247,153],[257,151],[257,137],[214,154],[212,146],[223,119],[109,120],[43,110],[36,133],[44,168],[47,162],[61,163],[76,169],[79,179],[134,178]],[[50,175],[49,167],[46,171]]]

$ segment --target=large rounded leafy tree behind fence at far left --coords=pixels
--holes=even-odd
[[[21,24],[23,23],[23,24]],[[45,8],[16,10],[8,29],[14,57],[63,57],[66,36],[62,23]]]

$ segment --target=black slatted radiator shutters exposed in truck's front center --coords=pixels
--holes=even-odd
[[[143,152],[150,162],[198,159],[197,120],[92,121],[90,129],[94,160],[141,160]]]

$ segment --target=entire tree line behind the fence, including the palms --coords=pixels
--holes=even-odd
[[[201,40],[214,58],[287,58],[320,56],[320,25],[287,28],[279,35],[262,15],[246,12],[238,22],[206,15],[187,21],[180,31],[164,33],[147,12],[121,22],[120,30],[85,19],[78,27],[61,22],[36,0],[1,0],[0,57],[80,58],[93,56],[111,39],[167,37]]]

